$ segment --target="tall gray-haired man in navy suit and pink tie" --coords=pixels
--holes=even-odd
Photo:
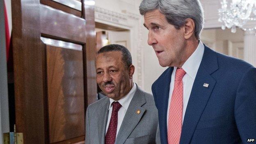
[[[199,0],[143,0],[139,11],[148,44],[169,66],[152,85],[161,144],[256,139],[256,68],[203,45]]]

